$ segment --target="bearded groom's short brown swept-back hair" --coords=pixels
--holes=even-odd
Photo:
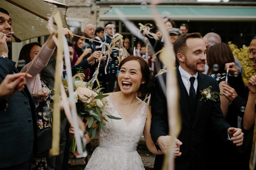
[[[175,54],[175,58],[177,60],[178,60],[178,58],[177,58],[178,53],[184,54],[186,52],[188,38],[201,38],[202,39],[202,35],[200,33],[187,33],[187,34],[180,35],[177,38],[177,40],[173,43],[173,51]]]

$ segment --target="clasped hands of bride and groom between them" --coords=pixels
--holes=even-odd
[[[171,141],[172,137],[171,136],[159,136],[157,138],[157,144],[159,145],[159,148],[162,150],[164,154],[167,154],[168,150],[171,149],[169,144]],[[175,144],[173,145],[173,157],[176,158],[178,156],[181,156],[180,152],[180,145],[182,145],[182,142],[178,140],[176,137],[174,139]]]

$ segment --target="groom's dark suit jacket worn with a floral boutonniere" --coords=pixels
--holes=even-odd
[[[180,115],[182,120],[182,129],[177,138],[183,143],[180,146],[182,152],[180,157],[175,159],[176,170],[188,169],[190,162],[193,169],[206,170],[206,136],[208,129],[212,129],[223,140],[227,139],[227,129],[230,125],[227,124],[223,118],[222,111],[220,109],[220,100],[217,98],[217,102],[206,100],[204,98],[199,101],[201,95],[197,95],[197,109],[195,119],[192,122],[189,115],[189,108],[186,99],[187,91],[184,88],[184,84],[181,80],[181,75],[176,68],[178,86],[179,86],[179,101],[180,101]],[[212,86],[211,91],[219,92],[218,82],[207,75],[198,73],[198,90],[206,89]],[[156,80],[156,88],[151,93],[151,110],[152,110],[152,123],[151,123],[151,137],[156,144],[157,137],[160,135],[168,135],[168,117],[167,117],[167,102],[165,89],[162,89],[161,84],[166,84],[166,73],[159,75]],[[158,145],[156,145],[158,147]],[[162,166],[163,155],[157,155],[154,163],[154,168],[160,170]]]

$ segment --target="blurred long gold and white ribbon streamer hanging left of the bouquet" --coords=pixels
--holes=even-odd
[[[60,141],[60,105],[61,105],[61,98],[65,99],[67,98],[66,93],[62,92],[62,95],[60,95],[61,89],[64,89],[62,87],[62,80],[61,80],[61,73],[63,70],[63,50],[64,50],[64,57],[67,67],[67,83],[69,88],[69,96],[74,96],[74,89],[73,89],[73,81],[72,81],[72,72],[71,72],[71,62],[69,58],[69,51],[68,51],[68,45],[67,40],[62,32],[62,22],[61,22],[61,16],[59,11],[54,11],[51,15],[54,20],[56,21],[57,27],[58,27],[58,39],[54,38],[54,42],[57,45],[57,57],[56,57],[56,69],[55,69],[55,80],[54,80],[54,88],[55,88],[55,94],[54,94],[54,102],[53,102],[53,141],[52,141],[52,148],[50,149],[50,155],[56,156],[59,155],[59,141]],[[49,22],[49,31],[55,32],[55,29],[53,27],[52,20]],[[63,101],[65,102],[65,101]],[[82,140],[84,141],[85,138],[83,134],[80,133],[79,124],[81,129],[85,129],[83,126],[83,123],[78,121],[76,106],[75,106],[75,99],[70,97],[69,98],[69,104],[65,104],[65,114],[70,124],[72,124],[75,128],[75,137],[80,138],[82,137]],[[71,114],[70,114],[71,111]],[[72,116],[71,116],[72,115]],[[71,119],[72,117],[72,119]],[[84,157],[87,156],[87,152],[83,152],[82,143],[81,140],[76,140],[78,152],[82,154]],[[83,142],[86,143],[86,142]]]

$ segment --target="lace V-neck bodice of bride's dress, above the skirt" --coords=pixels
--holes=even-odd
[[[110,96],[106,97],[105,100],[108,101],[108,105],[104,109],[111,113],[112,116],[122,119],[110,119],[106,116],[108,120],[105,125],[106,133],[102,132],[101,129],[99,130],[99,142],[128,148],[137,147],[145,126],[147,104],[142,102],[137,111],[127,120]]]

